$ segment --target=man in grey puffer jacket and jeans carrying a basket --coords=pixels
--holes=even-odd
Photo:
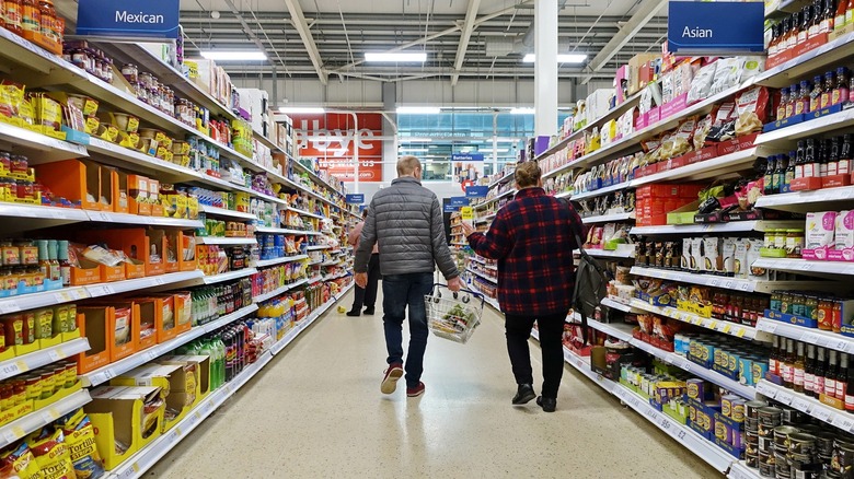
[[[415,156],[397,161],[397,178],[373,196],[356,250],[356,284],[368,281],[368,260],[373,244],[380,246],[382,308],[389,369],[380,390],[392,394],[403,376],[403,319],[409,307],[409,349],[406,358],[406,395],[424,394],[422,373],[427,348],[427,312],[424,295],[432,291],[436,265],[448,288],[462,288],[460,273],[445,242],[439,199],[422,186],[422,163]]]

